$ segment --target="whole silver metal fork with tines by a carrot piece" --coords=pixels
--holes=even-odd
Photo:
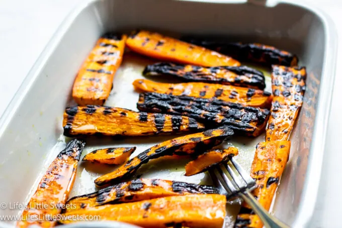
[[[224,172],[222,167],[227,172]],[[231,158],[226,164],[215,166],[209,171],[209,174],[217,186],[221,184],[226,192],[231,194],[230,197],[241,197],[260,217],[267,228],[289,228],[288,225],[266,211],[250,193],[250,191],[257,187],[255,181],[243,170],[234,158]]]

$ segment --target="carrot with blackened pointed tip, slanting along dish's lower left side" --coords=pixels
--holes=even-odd
[[[51,163],[41,179],[36,192],[23,212],[18,227],[39,225],[52,227],[65,204],[76,176],[77,163],[85,143],[78,139],[70,141]]]

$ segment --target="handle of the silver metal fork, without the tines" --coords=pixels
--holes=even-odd
[[[265,210],[265,208],[260,205],[260,203],[249,191],[245,191],[244,193],[240,193],[239,195],[253,209],[253,211],[258,214],[267,228],[290,228],[290,226],[286,225],[278,218],[271,215],[267,210]]]

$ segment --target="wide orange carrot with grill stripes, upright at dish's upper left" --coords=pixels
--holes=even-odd
[[[103,105],[107,100],[122,62],[126,38],[107,33],[98,40],[73,84],[72,97],[78,105]]]

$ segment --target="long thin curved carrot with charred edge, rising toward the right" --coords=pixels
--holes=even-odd
[[[152,159],[170,155],[196,155],[206,149],[220,144],[225,138],[233,135],[233,131],[224,126],[204,132],[189,134],[161,142],[146,149],[138,156],[132,158],[119,169],[112,173],[105,174],[95,180],[98,186],[113,184],[122,179],[128,178],[136,173],[140,166]]]

